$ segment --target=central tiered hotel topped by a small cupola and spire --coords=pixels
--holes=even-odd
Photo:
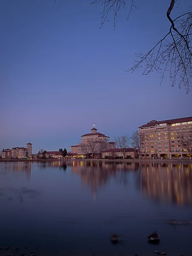
[[[101,145],[101,143],[103,145],[102,151],[115,148],[116,143],[113,141],[109,141],[109,139],[110,137],[98,132],[94,124],[93,128],[91,129],[91,132],[82,135],[81,143],[71,146],[71,153],[68,153],[67,155],[71,157],[79,157],[79,156],[84,157],[86,150],[87,150],[87,153],[90,155],[92,154],[91,146],[93,144],[95,145],[95,152],[99,151],[97,144]],[[83,150],[84,148],[86,150]]]

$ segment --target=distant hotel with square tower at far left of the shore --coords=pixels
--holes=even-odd
[[[1,152],[2,159],[17,159],[32,157],[32,143],[27,143],[26,148],[14,147],[12,149],[4,149]]]

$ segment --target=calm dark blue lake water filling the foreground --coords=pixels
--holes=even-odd
[[[0,256],[191,255],[192,225],[169,219],[192,220],[191,164],[0,163]]]

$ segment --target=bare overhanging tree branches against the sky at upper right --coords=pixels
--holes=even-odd
[[[101,27],[105,22],[109,21],[108,14],[112,11],[113,27],[115,29],[117,14],[120,9],[126,7],[127,1],[93,0],[92,4],[100,3],[103,6]],[[128,12],[128,18],[134,9],[137,9],[134,0],[129,2],[131,7]],[[171,12],[176,2],[177,0],[170,0],[170,5],[166,12],[170,22],[167,34],[147,53],[137,53],[136,57],[139,60],[135,61],[134,66],[127,71],[134,72],[138,68],[143,68],[143,75],[157,71],[160,74],[160,84],[168,75],[172,87],[177,84],[179,88],[184,87],[186,93],[189,93],[192,84],[192,7],[186,7],[186,12],[172,19]],[[180,1],[178,3],[181,4]]]

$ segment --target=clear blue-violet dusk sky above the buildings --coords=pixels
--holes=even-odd
[[[155,119],[192,116],[192,91],[160,86],[158,73],[132,67],[169,30],[169,1],[137,0],[100,29],[91,0],[0,1],[0,150],[33,144],[55,151],[98,132],[129,135]],[[176,6],[173,17],[190,5]]]

